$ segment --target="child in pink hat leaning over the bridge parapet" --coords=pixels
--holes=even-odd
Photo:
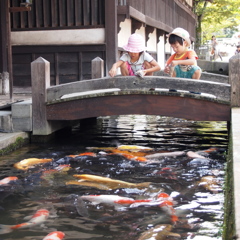
[[[159,71],[160,66],[154,58],[145,52],[145,43],[141,35],[132,34],[128,39],[128,44],[123,46],[127,53],[123,54],[120,60],[113,64],[109,75],[114,77],[117,74],[117,68],[120,67],[123,76],[145,76],[153,75],[153,72]]]

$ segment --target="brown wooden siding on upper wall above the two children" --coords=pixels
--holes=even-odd
[[[125,17],[130,15],[139,22],[165,32],[183,27],[195,37],[196,18],[191,3],[185,0],[119,0],[118,13]]]

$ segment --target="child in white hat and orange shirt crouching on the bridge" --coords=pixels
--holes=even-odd
[[[199,79],[202,71],[197,66],[197,54],[188,49],[191,44],[188,31],[175,28],[168,35],[168,41],[175,53],[167,60],[164,72],[169,74],[172,68],[172,77]]]

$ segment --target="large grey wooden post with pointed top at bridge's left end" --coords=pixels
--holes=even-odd
[[[46,114],[46,89],[50,87],[50,63],[44,58],[39,57],[31,63],[31,81],[33,135],[48,135],[50,125]]]

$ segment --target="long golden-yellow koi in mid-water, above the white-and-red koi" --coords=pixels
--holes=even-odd
[[[143,182],[143,183],[130,183],[121,180],[115,180],[108,177],[101,177],[91,174],[75,174],[73,175],[76,178],[80,178],[82,181],[79,181],[78,185],[85,185],[86,182],[101,184],[101,186],[105,186],[108,189],[118,189],[118,188],[146,188],[149,187],[151,182]],[[85,185],[86,186],[86,185]]]

